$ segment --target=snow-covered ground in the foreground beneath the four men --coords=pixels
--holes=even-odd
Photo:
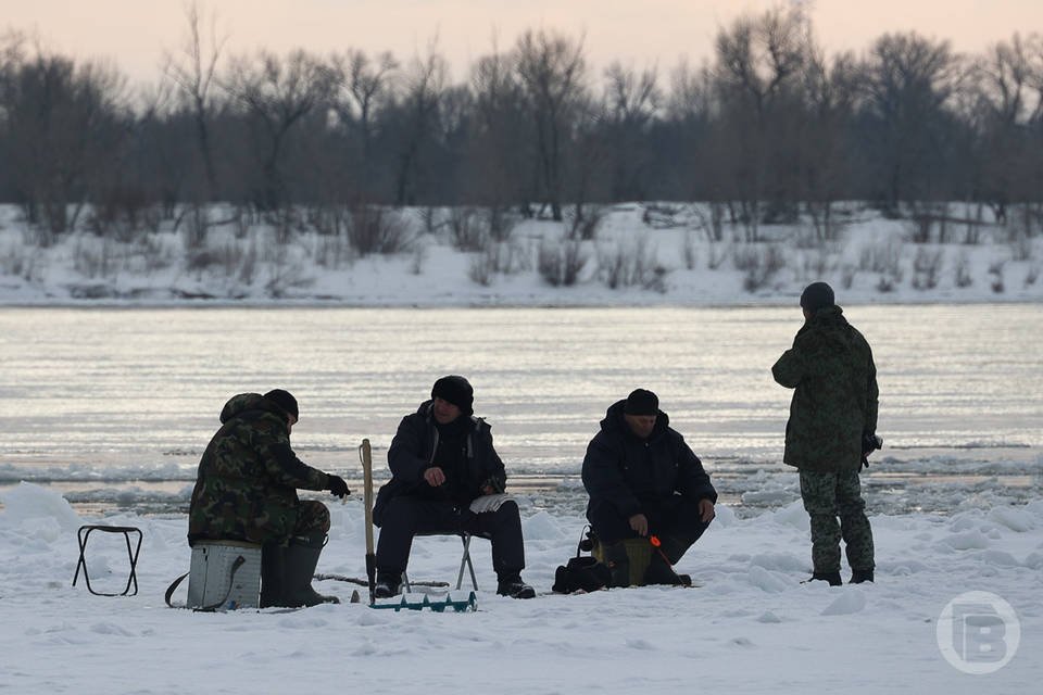
[[[502,598],[490,591],[488,545],[476,543],[474,614],[360,604],[294,612],[169,609],[163,592],[188,569],[184,518],[81,518],[30,483],[3,492],[2,501],[3,692],[1025,695],[1043,679],[1039,501],[947,517],[874,516],[878,581],[858,586],[801,583],[808,539],[800,503],[747,519],[719,506],[714,526],[679,564],[702,583],[690,590]],[[330,507],[318,569],[361,578],[361,505]],[[83,579],[70,585],[76,529],[98,521],[143,532],[134,597],[90,595]],[[581,528],[579,516],[526,515],[526,579],[548,592]],[[95,534],[87,557],[96,589],[123,589],[122,536]],[[411,577],[452,580],[458,557],[454,539],[423,539]],[[355,589],[331,580],[316,586],[343,598]],[[184,591],[175,602],[184,602]],[[955,622],[943,620],[946,606]]]

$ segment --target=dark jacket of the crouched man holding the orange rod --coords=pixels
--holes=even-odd
[[[642,440],[623,418],[625,404],[619,401],[608,408],[601,431],[587,446],[582,472],[590,495],[587,517],[602,516],[608,506],[630,518],[675,493],[716,503],[709,476],[684,438],[669,427],[669,416],[659,410],[655,429]]]

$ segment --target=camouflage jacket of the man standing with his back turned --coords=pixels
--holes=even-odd
[[[795,389],[783,460],[804,470],[858,470],[863,434],[877,430],[872,351],[839,306],[819,309],[771,367]]]

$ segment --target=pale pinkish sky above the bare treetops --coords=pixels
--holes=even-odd
[[[795,1],[795,0],[794,0]],[[400,59],[425,52],[437,36],[460,77],[490,52],[493,37],[510,47],[526,28],[585,36],[595,67],[612,60],[661,71],[681,56],[699,63],[713,37],[745,11],[771,0],[200,0],[216,12],[227,53],[304,48],[390,50]],[[815,0],[820,41],[832,53],[865,50],[888,31],[916,30],[948,39],[958,51],[980,52],[1016,31],[1043,31],[1043,0]],[[0,0],[0,33],[38,35],[75,58],[114,61],[131,80],[155,79],[164,49],[186,33],[186,0]]]

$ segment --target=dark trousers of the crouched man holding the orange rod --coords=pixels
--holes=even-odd
[[[677,563],[680,555],[709,526],[708,521],[700,518],[699,502],[681,495],[643,502],[641,513],[649,519],[649,535],[657,535],[664,542],[664,547],[671,551],[668,552],[670,563]],[[638,538],[630,528],[630,519],[618,514],[611,505],[600,506],[594,514],[588,515],[588,520],[598,540],[605,545]],[[667,540],[678,542],[667,543]],[[677,557],[673,557],[674,554],[678,554]]]

